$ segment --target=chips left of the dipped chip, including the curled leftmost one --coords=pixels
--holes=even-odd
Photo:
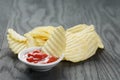
[[[11,50],[18,54],[24,48],[43,46],[55,28],[53,26],[36,27],[24,36],[13,29],[8,29],[8,43]]]

